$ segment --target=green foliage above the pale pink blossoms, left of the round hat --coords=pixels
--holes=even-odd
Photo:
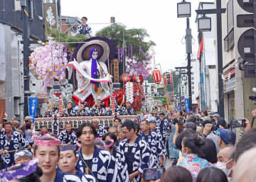
[[[75,47],[77,47],[80,44],[80,42],[89,38],[83,34],[77,34],[74,36],[67,35],[66,33],[62,33],[58,28],[46,30],[46,36],[50,36],[54,38],[54,40],[57,42],[70,42],[70,43],[67,43],[67,45],[68,45],[68,49],[71,51],[74,51]],[[75,42],[78,42],[78,43],[75,43]]]

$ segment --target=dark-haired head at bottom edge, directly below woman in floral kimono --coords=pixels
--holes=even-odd
[[[228,178],[220,169],[209,167],[200,171],[196,182],[228,182]]]

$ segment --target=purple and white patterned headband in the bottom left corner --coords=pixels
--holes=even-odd
[[[38,166],[38,159],[32,159],[26,163],[16,164],[14,166],[10,166],[7,169],[3,169],[0,171],[0,179],[2,182],[11,181],[15,179],[21,179],[28,175],[31,175],[36,171]]]

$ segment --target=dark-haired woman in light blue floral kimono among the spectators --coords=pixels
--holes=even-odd
[[[177,165],[188,169],[195,179],[201,169],[211,166],[206,159],[198,157],[198,155],[203,155],[200,150],[203,144],[205,144],[205,142],[195,134],[187,135],[183,138],[181,143],[183,159],[181,159]]]

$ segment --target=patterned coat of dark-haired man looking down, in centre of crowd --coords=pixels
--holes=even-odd
[[[131,152],[129,152],[129,147],[132,147]],[[137,137],[134,144],[130,146],[129,140],[124,140],[120,142],[119,149],[124,154],[125,160],[128,165],[129,174],[134,173],[135,171],[139,171],[141,174],[143,173],[143,169],[149,168],[149,158],[151,155],[151,151],[149,149],[149,145],[141,140],[140,137]],[[132,179],[132,182],[139,182],[142,180],[142,175]]]

